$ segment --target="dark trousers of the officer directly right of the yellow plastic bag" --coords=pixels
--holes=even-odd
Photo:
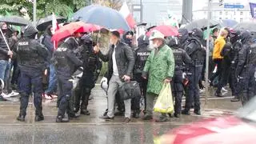
[[[182,111],[182,94],[184,90],[182,84],[182,70],[175,70],[171,87],[173,97],[175,98],[174,111],[175,114],[180,114]]]

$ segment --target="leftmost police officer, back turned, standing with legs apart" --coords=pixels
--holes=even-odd
[[[24,31],[24,37],[18,41],[18,46],[14,50],[18,54],[18,66],[21,70],[21,105],[17,118],[21,122],[25,121],[26,107],[28,106],[31,89],[36,109],[34,121],[38,122],[44,119],[42,115],[42,74],[43,70],[46,70],[46,58],[49,58],[50,54],[44,46],[34,39],[36,34],[38,34],[38,30],[34,26],[27,26]]]

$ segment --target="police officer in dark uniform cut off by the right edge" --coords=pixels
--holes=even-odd
[[[256,45],[252,43],[252,37],[249,31],[243,31],[241,34],[242,50],[238,53],[238,66],[235,70],[238,78],[238,87],[242,105],[244,106],[254,97],[255,89],[255,66],[256,66]]]

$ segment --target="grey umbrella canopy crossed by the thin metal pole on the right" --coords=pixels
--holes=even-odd
[[[221,22],[210,20],[210,27],[220,26]],[[205,29],[207,27],[207,19],[198,19],[187,24],[184,28],[187,30],[193,30],[194,28]]]

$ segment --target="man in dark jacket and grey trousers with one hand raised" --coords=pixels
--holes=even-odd
[[[110,50],[104,55],[98,46],[94,46],[94,51],[98,53],[99,58],[108,64],[108,77],[110,78],[108,89],[108,113],[102,116],[102,119],[114,119],[114,101],[118,87],[124,82],[130,82],[130,78],[134,69],[134,53],[129,46],[120,41],[120,33],[113,31],[110,37]],[[124,100],[126,112],[124,122],[130,122],[130,99]]]

